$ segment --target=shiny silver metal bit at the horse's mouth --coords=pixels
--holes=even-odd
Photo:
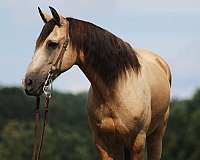
[[[52,95],[52,90],[53,90],[53,84],[52,84],[53,80],[52,80],[52,73],[49,72],[47,79],[44,83],[43,86],[43,91],[46,97],[51,98]]]

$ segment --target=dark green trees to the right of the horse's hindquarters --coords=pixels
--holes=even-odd
[[[164,141],[164,159],[200,159],[200,90],[190,100],[174,100]]]

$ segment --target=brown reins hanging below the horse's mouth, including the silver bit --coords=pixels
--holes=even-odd
[[[45,81],[43,91],[45,94],[45,108],[44,108],[44,123],[41,132],[40,127],[40,97],[36,97],[36,109],[35,109],[35,141],[33,145],[33,152],[32,152],[32,160],[39,160],[40,154],[42,150],[42,145],[44,141],[44,134],[46,125],[48,122],[48,108],[49,108],[49,99],[51,98],[52,92],[52,73],[49,72],[48,77]]]

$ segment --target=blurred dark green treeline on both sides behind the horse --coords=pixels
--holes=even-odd
[[[54,92],[43,160],[96,160],[87,121],[86,93]],[[0,88],[0,160],[31,159],[35,99],[20,88]],[[190,100],[173,100],[163,160],[200,159],[200,90]]]

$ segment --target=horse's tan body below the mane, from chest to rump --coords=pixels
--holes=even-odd
[[[92,86],[89,91],[89,122],[103,160],[123,160],[124,147],[132,150],[132,159],[142,160],[146,140],[148,160],[160,159],[169,115],[171,74],[156,54],[135,51],[141,64],[139,75],[128,71],[105,99]]]

